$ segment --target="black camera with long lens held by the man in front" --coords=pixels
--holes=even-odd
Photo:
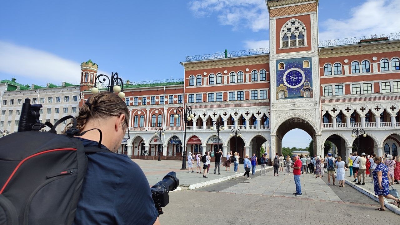
[[[179,179],[176,178],[176,173],[169,172],[166,176],[164,176],[164,178],[162,178],[162,181],[154,184],[154,186],[150,188],[158,215],[162,215],[164,213],[161,207],[164,207],[169,203],[170,197],[168,193],[178,188],[178,186]]]

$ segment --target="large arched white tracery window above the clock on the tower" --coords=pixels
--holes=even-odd
[[[281,47],[295,47],[306,45],[306,29],[302,22],[291,19],[281,29]]]

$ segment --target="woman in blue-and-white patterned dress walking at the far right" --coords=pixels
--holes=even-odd
[[[400,208],[400,199],[389,194],[390,183],[388,179],[388,167],[382,163],[382,158],[379,156],[374,157],[374,162],[376,163],[376,168],[372,171],[372,176],[374,176],[374,191],[375,195],[378,195],[380,203],[380,208],[376,210],[385,211],[386,208],[383,197],[396,201],[397,207]]]

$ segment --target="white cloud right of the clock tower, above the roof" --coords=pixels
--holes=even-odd
[[[352,8],[346,20],[328,19],[320,23],[320,40],[352,38],[400,31],[397,22],[400,0],[366,0]]]

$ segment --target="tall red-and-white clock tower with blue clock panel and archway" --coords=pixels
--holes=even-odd
[[[322,154],[318,0],[266,0],[270,15],[271,156],[294,128]],[[315,90],[315,91],[314,91]]]

